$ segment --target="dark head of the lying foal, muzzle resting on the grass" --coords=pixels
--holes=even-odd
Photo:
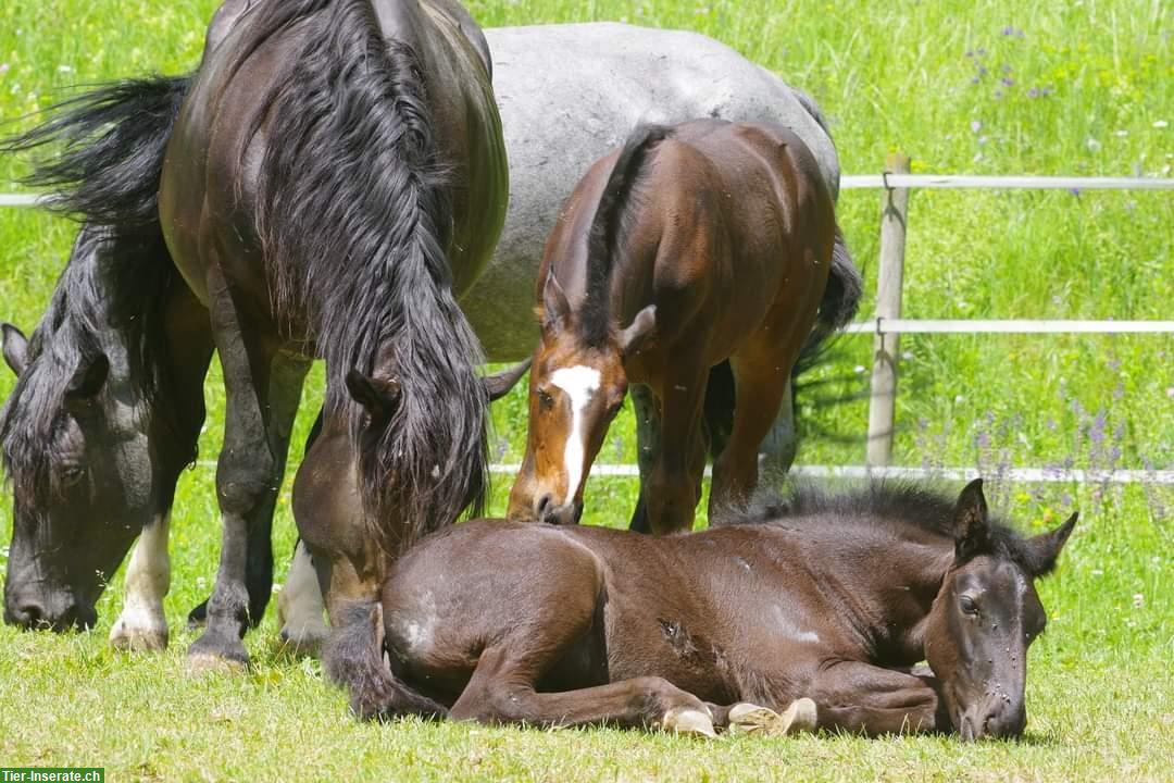
[[[1027,723],[1027,648],[1047,617],[1034,580],[1048,574],[1077,514],[1021,539],[992,525],[981,480],[954,507],[954,556],[925,628],[925,660],[964,738],[1011,737]]]

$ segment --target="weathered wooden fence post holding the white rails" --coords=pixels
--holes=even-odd
[[[892,153],[885,173],[909,174],[909,157]],[[886,183],[888,184],[888,183]],[[905,276],[905,228],[909,189],[885,188],[880,209],[880,269],[877,277],[877,318],[900,318],[900,291]],[[880,467],[892,458],[892,433],[897,404],[898,335],[877,335],[872,356],[872,396],[869,400],[866,463]]]

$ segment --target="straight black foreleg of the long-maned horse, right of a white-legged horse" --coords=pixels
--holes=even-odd
[[[227,390],[224,445],[216,467],[223,538],[208,625],[188,650],[196,667],[249,661],[241,640],[250,622],[259,621],[269,596],[250,601],[248,583],[272,585],[269,531],[309,369],[305,359],[270,347],[243,328],[247,322],[227,286],[212,302],[211,318]]]

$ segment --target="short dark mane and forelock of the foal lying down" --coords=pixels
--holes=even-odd
[[[868,520],[909,525],[953,541],[956,502],[957,493],[902,481],[872,481],[842,492],[796,482],[787,495],[762,497],[745,512],[731,513],[718,524],[771,525],[802,518],[808,524],[839,525]],[[993,512],[987,541],[985,554],[1010,558],[1027,573],[1039,573],[1023,535]]]

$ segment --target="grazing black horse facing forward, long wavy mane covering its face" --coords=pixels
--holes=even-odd
[[[453,2],[256,2],[207,53],[158,201],[228,403],[224,539],[194,659],[248,660],[247,542],[269,524],[311,359],[326,400],[295,515],[336,593],[372,594],[403,547],[479,507],[488,400],[456,296],[505,197],[486,47]],[[353,522],[353,506],[332,517],[339,475]]]

